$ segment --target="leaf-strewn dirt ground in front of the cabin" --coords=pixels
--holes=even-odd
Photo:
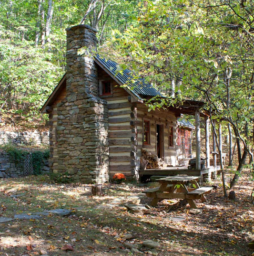
[[[71,209],[71,215],[50,214],[37,220],[0,223],[3,256],[247,256],[254,239],[254,208],[250,202],[253,181],[243,177],[234,188],[236,200],[218,189],[197,201],[203,213],[193,215],[181,200],[164,200],[149,213],[130,213],[124,204],[147,187],[105,184],[102,197],[91,196],[91,185],[53,184],[47,176],[0,180],[0,217],[52,209]],[[18,194],[16,198],[11,195]],[[144,198],[141,203],[149,203]],[[171,217],[181,218],[175,221]],[[126,239],[125,235],[131,234]],[[159,248],[142,246],[152,239]],[[138,252],[130,246],[138,245]],[[254,255],[254,254],[253,254]]]

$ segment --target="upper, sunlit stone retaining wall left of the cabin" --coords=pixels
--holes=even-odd
[[[17,146],[37,146],[41,144],[49,145],[49,132],[37,130],[34,131],[0,131],[0,145],[13,144]]]

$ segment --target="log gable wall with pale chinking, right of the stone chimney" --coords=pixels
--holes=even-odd
[[[110,81],[112,85],[112,95],[100,96],[107,101],[109,109],[110,177],[121,172],[130,179],[135,175],[131,171],[131,96],[101,68],[98,70],[98,79],[98,85],[102,81]]]

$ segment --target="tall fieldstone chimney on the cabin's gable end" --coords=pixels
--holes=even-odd
[[[109,179],[108,108],[98,97],[96,31],[87,25],[66,29],[66,98],[57,105],[57,163],[74,181]]]

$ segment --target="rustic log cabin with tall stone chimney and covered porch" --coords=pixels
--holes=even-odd
[[[118,64],[92,55],[97,47],[93,28],[66,31],[66,74],[41,108],[49,114],[52,172],[68,172],[83,183],[106,182],[117,172],[133,180],[139,178],[142,150],[162,160],[163,167],[179,164],[176,146],[192,155],[194,126],[181,115],[199,118],[202,102],[186,100],[150,111],[145,99],[163,95],[142,78],[126,86],[129,69],[117,72]]]

